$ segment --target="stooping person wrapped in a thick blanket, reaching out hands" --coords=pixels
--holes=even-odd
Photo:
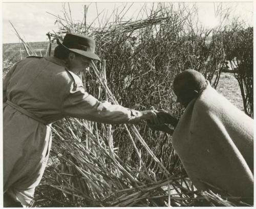
[[[177,75],[173,89],[185,107],[180,120],[155,110],[162,124],[148,126],[172,134],[173,148],[199,191],[209,189],[253,204],[253,119],[194,69]]]

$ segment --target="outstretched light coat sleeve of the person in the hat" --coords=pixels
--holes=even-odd
[[[62,103],[65,115],[86,119],[98,123],[108,124],[135,124],[140,120],[140,112],[120,105],[112,105],[107,101],[98,101],[84,91],[79,77],[72,81],[66,90]]]

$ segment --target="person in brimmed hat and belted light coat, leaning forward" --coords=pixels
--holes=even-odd
[[[136,111],[100,102],[76,75],[100,60],[95,41],[67,34],[54,57],[28,57],[3,82],[4,206],[31,206],[51,148],[51,126],[66,116],[99,123],[156,120],[153,110]]]

